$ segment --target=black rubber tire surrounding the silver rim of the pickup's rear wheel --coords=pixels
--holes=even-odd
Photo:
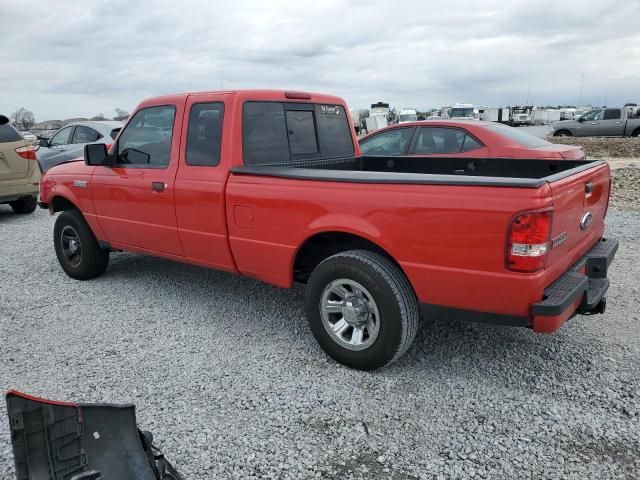
[[[359,351],[340,345],[323,323],[323,292],[338,279],[362,285],[377,305],[377,336]],[[404,273],[386,257],[367,250],[341,252],[321,262],[309,277],[305,308],[311,331],[324,351],[337,362],[360,370],[374,370],[400,358],[415,339],[420,317],[418,301]]]

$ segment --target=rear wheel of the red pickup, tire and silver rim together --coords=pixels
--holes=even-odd
[[[349,250],[324,260],[305,292],[314,337],[334,360],[373,370],[400,358],[418,330],[418,301],[386,257]]]

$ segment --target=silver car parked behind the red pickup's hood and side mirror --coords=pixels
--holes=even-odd
[[[36,151],[40,169],[46,172],[51,167],[84,155],[88,143],[110,145],[122,128],[122,122],[86,121],[74,122],[54,133],[49,140],[40,140]]]

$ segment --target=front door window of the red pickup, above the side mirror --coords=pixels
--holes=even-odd
[[[171,158],[173,105],[138,110],[118,140],[119,165],[166,167]]]

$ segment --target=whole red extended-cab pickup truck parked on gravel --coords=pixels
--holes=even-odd
[[[306,283],[319,344],[374,369],[421,311],[535,332],[604,312],[610,185],[602,161],[361,157],[342,99],[235,91],[142,102],[40,194],[71,277],[126,250]]]

